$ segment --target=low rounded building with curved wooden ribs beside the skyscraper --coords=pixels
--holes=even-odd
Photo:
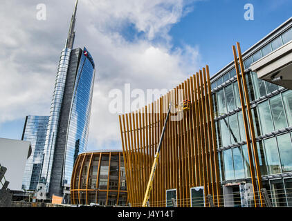
[[[71,179],[71,204],[127,204],[122,151],[95,151],[78,155]]]

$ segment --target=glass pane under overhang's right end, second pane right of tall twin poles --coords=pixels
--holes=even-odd
[[[275,130],[285,128],[287,126],[284,107],[282,104],[281,95],[276,95],[270,99],[272,115],[275,124]]]

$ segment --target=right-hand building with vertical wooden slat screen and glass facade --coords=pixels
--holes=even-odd
[[[215,206],[260,207],[267,205],[263,189],[273,206],[292,206],[292,90],[281,86],[289,84],[285,77],[289,77],[287,70],[292,64],[291,43],[292,17],[242,53],[244,75],[237,73],[235,61],[230,61],[209,79],[206,66],[152,104],[120,115],[127,189],[133,206],[143,202],[143,184],[149,179],[165,123],[163,110],[170,102],[179,105],[180,97],[191,101],[190,108],[182,111],[180,120],[166,124],[150,206],[173,206],[174,199],[177,206],[211,206],[213,201]],[[266,70],[269,63],[264,61],[278,67],[275,73]],[[246,110],[249,113],[250,106],[248,118],[253,122],[255,140],[246,135],[251,130],[250,124],[244,123],[239,94],[242,83],[238,84],[237,74],[246,79],[246,84],[241,81],[247,88],[250,105]],[[273,81],[275,77],[282,81]],[[172,111],[170,118],[179,114]],[[255,141],[250,142],[249,150],[247,140]]]

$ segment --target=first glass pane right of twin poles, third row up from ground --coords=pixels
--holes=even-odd
[[[262,125],[262,133],[265,134],[271,133],[271,131],[275,131],[271,117],[271,111],[268,106],[268,101],[260,103],[258,108],[259,118]]]

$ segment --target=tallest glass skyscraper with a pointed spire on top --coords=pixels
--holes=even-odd
[[[46,197],[69,194],[74,155],[86,151],[95,64],[86,48],[73,49],[77,1],[61,52],[48,119],[40,182]]]

